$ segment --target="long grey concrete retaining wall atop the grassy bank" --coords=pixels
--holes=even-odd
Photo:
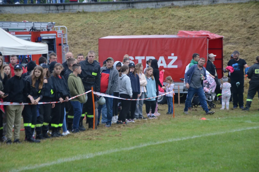
[[[124,9],[161,8],[166,6],[210,5],[219,3],[240,3],[250,0],[152,0],[97,3],[64,3],[64,4],[4,4],[0,5],[0,14],[14,13],[64,13],[64,12],[103,12]],[[253,0],[258,1],[258,0]]]

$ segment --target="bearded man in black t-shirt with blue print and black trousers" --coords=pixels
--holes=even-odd
[[[238,105],[240,109],[244,108],[244,68],[248,67],[246,61],[239,58],[239,55],[240,53],[238,51],[234,51],[234,58],[229,60],[227,64],[228,66],[232,66],[234,68],[234,71],[230,74],[234,109],[236,109]],[[238,82],[240,85],[236,84]]]

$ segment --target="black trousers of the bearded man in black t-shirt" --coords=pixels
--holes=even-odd
[[[233,106],[234,107],[243,107],[244,106],[244,81],[239,81],[240,85],[237,87],[236,83],[238,81],[231,81],[232,96],[233,96]]]

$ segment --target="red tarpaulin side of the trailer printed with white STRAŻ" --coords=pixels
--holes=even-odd
[[[180,81],[193,53],[200,54],[207,61],[207,37],[181,38],[176,35],[106,36],[99,39],[99,62],[108,57],[123,61],[128,54],[135,64],[150,58],[158,60],[159,70],[165,70],[164,79],[171,76]]]

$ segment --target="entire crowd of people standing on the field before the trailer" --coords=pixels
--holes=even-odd
[[[186,66],[185,84],[188,95],[185,101],[184,113],[188,114],[191,100],[195,94],[199,96],[200,105],[206,114],[210,111],[204,94],[203,81],[211,76],[217,83],[217,100],[222,102],[222,110],[229,109],[229,101],[233,95],[233,108],[238,106],[242,110],[249,110],[256,92],[259,91],[259,56],[256,63],[248,67],[246,62],[239,58],[239,52],[234,51],[228,66],[224,69],[228,77],[224,76],[218,81],[217,70],[213,61],[214,54],[208,55],[208,64],[203,67],[206,60],[195,53],[191,63]],[[7,144],[21,143],[20,129],[21,116],[25,130],[25,140],[30,143],[39,143],[42,139],[61,137],[67,134],[85,131],[83,119],[86,118],[88,128],[93,128],[93,115],[96,112],[97,125],[105,124],[109,128],[113,124],[134,123],[136,120],[156,119],[157,96],[167,92],[168,112],[173,113],[173,81],[171,76],[166,77],[166,85],[160,81],[157,60],[149,59],[147,68],[143,64],[134,64],[125,55],[122,62],[108,57],[103,66],[95,60],[95,52],[89,51],[85,58],[78,54],[74,58],[71,52],[66,53],[66,62],[57,63],[57,55],[49,54],[47,58],[40,57],[38,64],[30,61],[24,68],[17,64],[16,55],[10,56],[10,64],[3,64],[0,55],[0,101],[25,103],[24,105],[0,106],[0,136]],[[243,106],[244,68],[250,79],[247,104]],[[206,70],[207,69],[207,70]],[[162,77],[163,80],[163,77]],[[92,96],[94,92],[106,94]],[[159,91],[161,90],[162,91]],[[90,92],[88,92],[90,91]],[[88,92],[87,94],[85,94]],[[103,95],[102,94],[102,95]],[[121,100],[117,98],[122,98]],[[72,98],[70,99],[69,98]],[[146,115],[142,112],[143,100],[146,105]],[[125,100],[124,100],[125,99]],[[118,115],[118,103],[120,112]],[[41,103],[39,103],[41,102]],[[44,103],[45,102],[45,103]],[[55,103],[48,103],[55,102]],[[27,103],[27,104],[26,104]],[[30,103],[30,104],[28,104]],[[95,104],[95,109],[93,108]],[[61,133],[62,128],[62,133]],[[13,136],[12,136],[12,130]]]

